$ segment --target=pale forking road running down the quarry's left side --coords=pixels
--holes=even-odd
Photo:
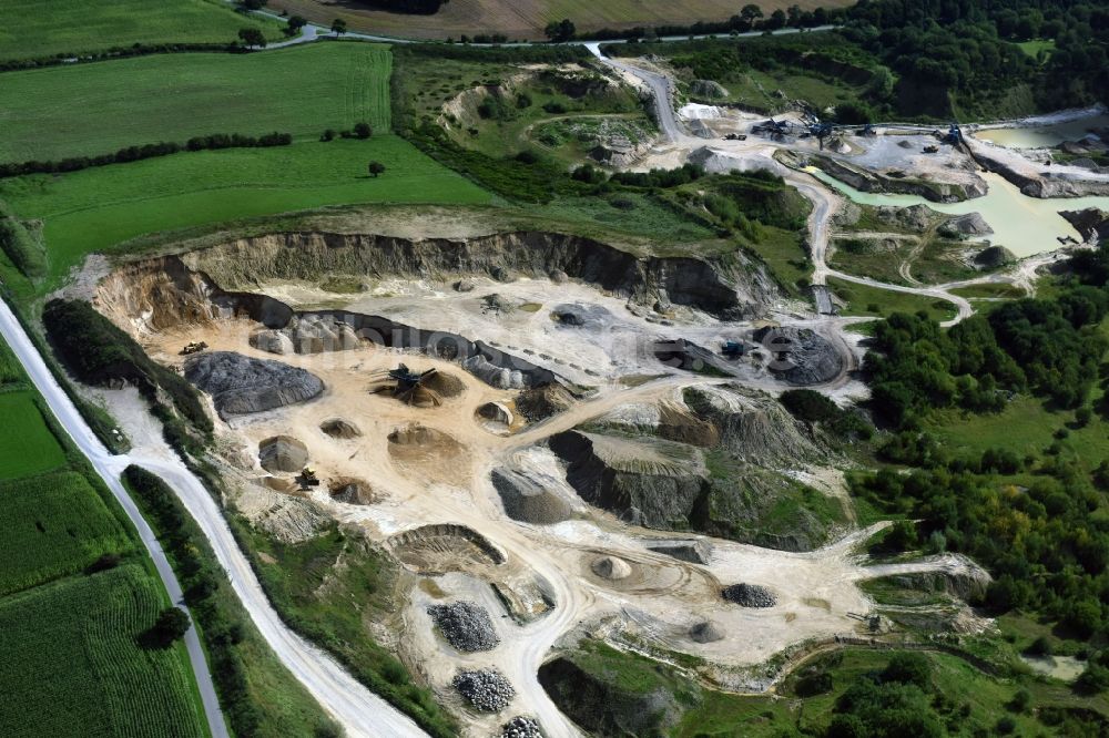
[[[196,520],[216,558],[227,572],[232,588],[243,602],[254,625],[274,649],[282,664],[295,676],[316,700],[337,720],[348,736],[381,738],[388,736],[424,736],[424,731],[407,715],[396,709],[357,681],[339,664],[323,650],[308,644],[293,633],[278,617],[269,604],[262,585],[238,544],[231,534],[223,513],[215,500],[200,480],[185,468],[180,459],[166,459],[145,454],[112,455],[84,422],[73,402],[59,386],[34,344],[12,314],[11,308],[0,300],[0,335],[19,358],[23,370],[47,400],[51,412],[96,473],[104,480],[120,501],[128,516],[139,529],[143,544],[157,567],[157,573],[173,601],[184,608],[181,585],[154,537],[153,531],[143,520],[120,482],[120,473],[130,464],[138,464],[161,476],[173,488],[189,513]],[[212,675],[204,660],[196,629],[190,628],[185,635],[189,657],[200,685],[201,698],[212,735],[215,738],[228,736],[220,711]]]

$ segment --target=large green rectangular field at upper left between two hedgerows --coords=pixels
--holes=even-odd
[[[106,154],[196,135],[318,139],[359,121],[389,129],[388,47],[317,43],[255,54],[161,54],[9,72],[0,162]]]

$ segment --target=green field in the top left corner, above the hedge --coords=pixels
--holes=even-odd
[[[0,61],[103,51],[134,43],[228,43],[241,28],[283,38],[282,23],[220,0],[0,0]]]

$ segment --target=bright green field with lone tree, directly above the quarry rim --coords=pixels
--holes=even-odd
[[[385,164],[370,177],[367,163]],[[190,152],[63,176],[0,181],[0,198],[42,218],[57,284],[89,253],[161,230],[354,203],[484,204],[491,195],[405,140]]]

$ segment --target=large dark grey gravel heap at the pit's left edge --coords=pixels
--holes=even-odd
[[[190,357],[185,379],[212,396],[224,420],[304,402],[324,391],[324,382],[311,371],[234,351]]]

